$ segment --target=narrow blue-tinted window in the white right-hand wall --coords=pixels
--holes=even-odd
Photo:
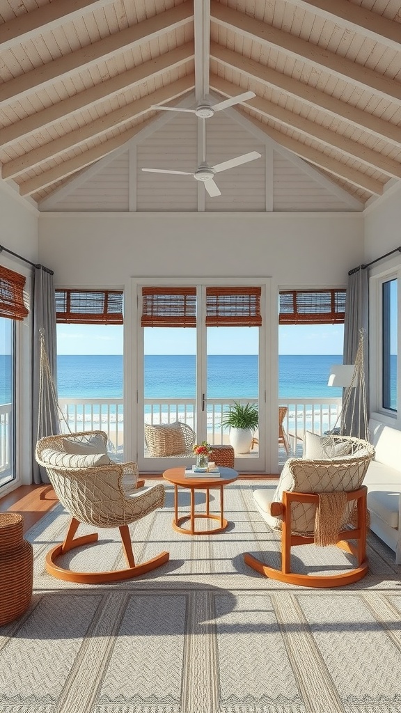
[[[382,283],[382,407],[397,411],[397,279]]]

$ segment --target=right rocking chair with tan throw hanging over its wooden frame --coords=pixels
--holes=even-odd
[[[280,582],[325,588],[351,584],[367,573],[367,488],[362,481],[375,449],[367,441],[347,436],[332,438],[330,448],[331,457],[319,461],[289,458],[275,491],[254,491],[260,514],[271,528],[281,530],[280,570],[249,553],[244,555],[245,563],[260,574]],[[355,556],[357,566],[340,575],[293,573],[291,546],[306,544],[337,545]]]

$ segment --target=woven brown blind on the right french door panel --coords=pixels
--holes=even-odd
[[[209,327],[260,327],[260,287],[206,287]]]

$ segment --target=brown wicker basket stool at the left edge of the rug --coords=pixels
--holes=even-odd
[[[20,617],[31,603],[34,555],[23,533],[22,515],[0,513],[0,625]]]

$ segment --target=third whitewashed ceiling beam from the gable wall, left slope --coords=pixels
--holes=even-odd
[[[37,111],[20,121],[6,126],[0,130],[0,145],[4,147],[12,141],[24,138],[24,136],[34,133],[38,129],[43,129],[69,114],[80,111],[84,107],[96,104],[118,91],[128,87],[133,88],[163,73],[163,71],[179,67],[191,58],[193,58],[193,42],[187,42],[181,47],[144,62],[133,69],[128,69],[128,71],[117,74],[111,79],[106,79],[106,81],[96,84],[94,87],[89,87],[85,91],[74,94],[46,109],[42,109],[42,111]]]

